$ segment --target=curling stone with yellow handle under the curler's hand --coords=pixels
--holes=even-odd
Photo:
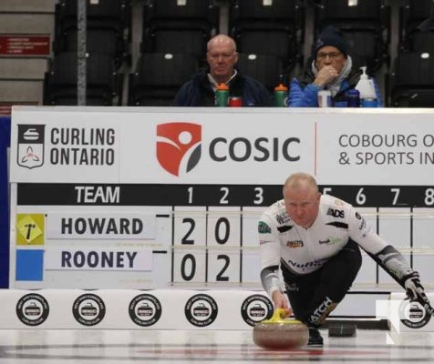
[[[263,349],[293,349],[307,344],[309,329],[296,319],[283,319],[284,309],[274,311],[271,319],[253,328],[253,342]]]

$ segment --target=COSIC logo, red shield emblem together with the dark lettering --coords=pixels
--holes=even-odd
[[[202,157],[202,126],[173,122],[157,126],[157,159],[160,166],[176,177],[196,167]],[[296,162],[300,160],[298,137],[217,136],[206,141],[203,149],[213,162]]]

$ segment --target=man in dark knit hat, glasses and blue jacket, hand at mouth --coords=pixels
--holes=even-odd
[[[334,105],[342,105],[346,101],[346,91],[356,87],[362,73],[360,69],[353,69],[353,60],[347,49],[341,32],[334,26],[326,27],[315,42],[312,64],[303,76],[294,77],[291,81],[289,106],[318,107],[317,93],[320,90],[330,90]],[[375,79],[374,85],[377,106],[383,106]]]

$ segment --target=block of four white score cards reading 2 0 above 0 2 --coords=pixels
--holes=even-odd
[[[173,209],[172,283],[242,281],[240,207]]]

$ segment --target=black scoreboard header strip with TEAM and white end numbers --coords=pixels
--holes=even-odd
[[[358,207],[434,207],[427,186],[320,185],[323,193]],[[282,185],[18,184],[18,205],[268,207]]]

